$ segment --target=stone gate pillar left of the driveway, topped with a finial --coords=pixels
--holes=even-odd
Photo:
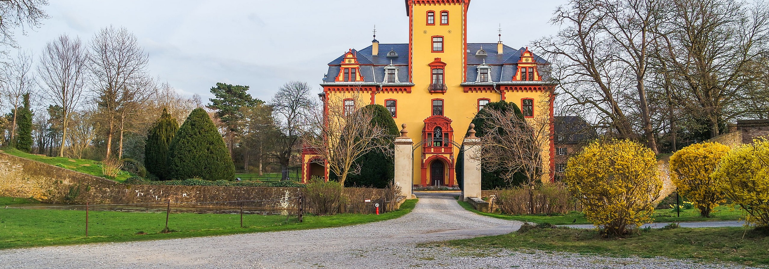
[[[395,138],[395,184],[401,186],[401,194],[411,199],[411,186],[414,182],[414,154],[411,147],[414,141],[406,136],[406,124],[401,125],[401,136]]]

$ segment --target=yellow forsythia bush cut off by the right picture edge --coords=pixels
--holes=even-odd
[[[747,212],[745,221],[769,227],[769,141],[754,140],[724,155],[712,175],[724,193]]]

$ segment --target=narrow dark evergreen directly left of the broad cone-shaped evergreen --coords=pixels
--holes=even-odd
[[[168,146],[178,129],[179,124],[176,118],[171,117],[171,114],[168,114],[168,109],[163,108],[160,119],[155,122],[155,126],[147,134],[145,168],[162,181],[171,179],[171,171],[168,170]]]

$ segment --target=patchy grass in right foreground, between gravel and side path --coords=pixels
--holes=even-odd
[[[672,257],[744,265],[769,264],[769,231],[745,227],[676,228],[608,239],[586,229],[534,228],[523,233],[441,243],[472,251],[491,249],[567,251],[614,257]]]

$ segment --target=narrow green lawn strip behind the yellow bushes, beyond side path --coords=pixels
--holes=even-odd
[[[534,223],[549,223],[554,225],[564,224],[590,224],[584,218],[584,214],[578,211],[571,211],[569,214],[547,216],[547,215],[511,215],[501,213],[485,213],[477,211],[471,204],[465,201],[458,201],[462,208],[473,211],[477,214],[493,218],[501,218],[511,221],[528,221]],[[671,209],[657,209],[654,211],[654,222],[684,222],[684,221],[737,221],[744,211],[741,209],[732,209],[727,206],[720,206],[711,213],[711,218],[700,217],[700,212],[696,209],[687,209],[681,211],[681,217],[677,217],[676,212]]]

